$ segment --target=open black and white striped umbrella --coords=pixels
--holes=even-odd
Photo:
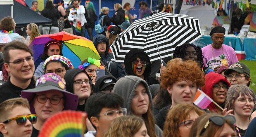
[[[144,50],[154,61],[173,55],[176,46],[192,43],[201,36],[198,19],[160,12],[134,21],[110,48],[116,62],[123,62],[126,53],[134,48]]]

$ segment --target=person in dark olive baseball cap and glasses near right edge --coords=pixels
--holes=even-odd
[[[231,86],[250,86],[251,84],[250,69],[244,63],[237,62],[230,65],[228,70],[225,70],[224,75],[230,81]]]

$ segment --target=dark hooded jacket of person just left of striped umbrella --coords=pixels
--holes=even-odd
[[[109,53],[109,39],[104,35],[95,35],[92,41],[96,49],[99,42],[106,42],[106,51],[105,53],[100,54],[102,62],[116,79],[124,77],[125,73],[122,64],[115,62],[113,54]],[[109,73],[105,71],[105,75],[108,74]]]

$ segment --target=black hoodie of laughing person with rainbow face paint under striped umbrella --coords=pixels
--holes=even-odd
[[[137,60],[137,58],[140,58],[140,60],[146,61],[146,68],[143,73],[143,76],[144,76],[144,80],[147,81],[147,84],[148,85],[159,84],[159,82],[156,79],[150,77],[150,72],[151,72],[150,59],[149,59],[149,56],[147,55],[147,53],[145,51],[143,51],[142,49],[132,49],[126,54],[126,56],[124,58],[126,75],[136,76],[133,72],[132,62]]]

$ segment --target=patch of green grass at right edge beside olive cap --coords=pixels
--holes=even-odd
[[[239,62],[242,62],[249,67],[251,73],[250,88],[256,93],[256,60],[239,60]]]

